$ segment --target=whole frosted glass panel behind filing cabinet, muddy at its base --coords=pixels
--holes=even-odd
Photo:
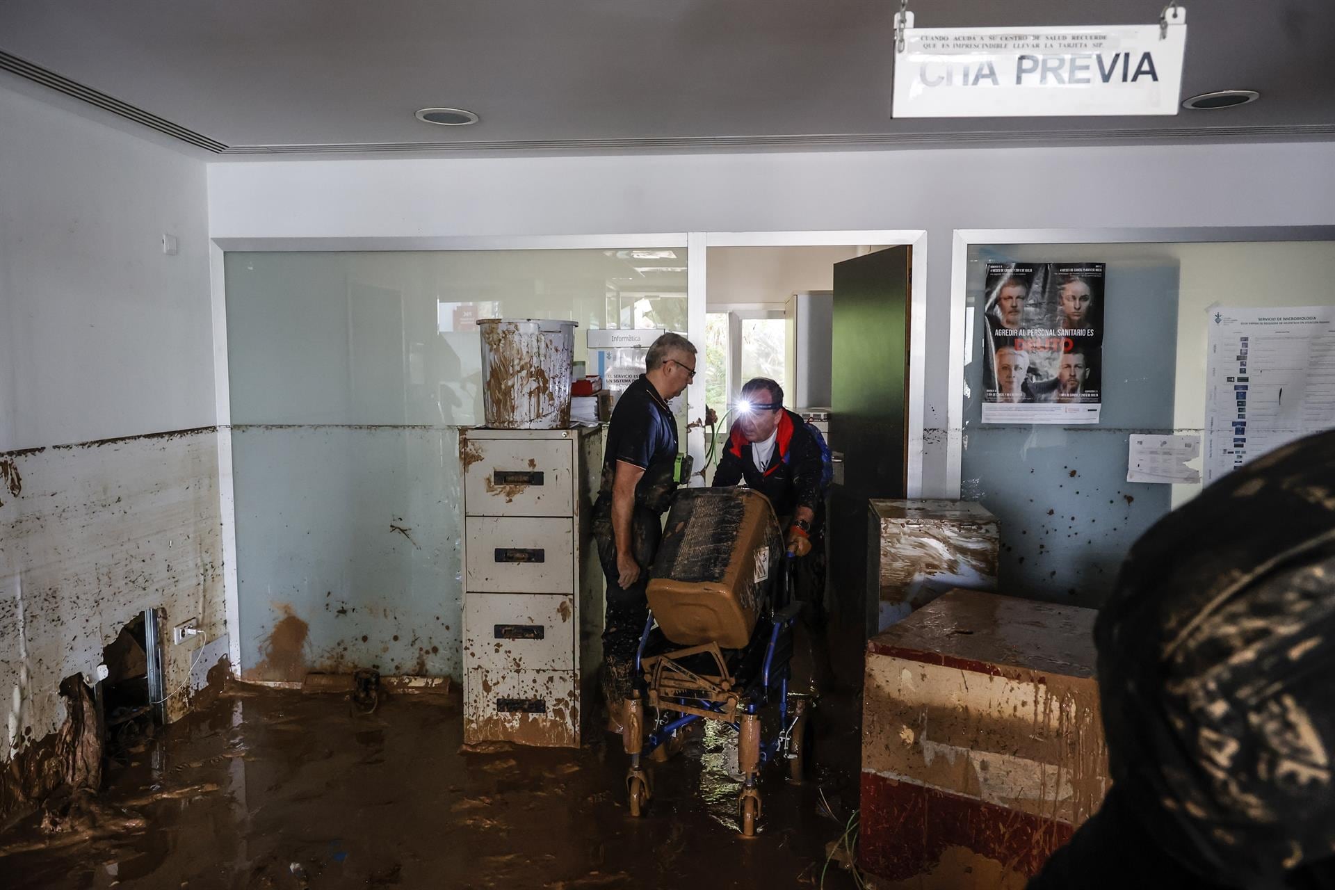
[[[242,664],[461,670],[458,427],[485,318],[686,328],[686,251],[226,256]],[[589,368],[590,372],[594,368]]]

